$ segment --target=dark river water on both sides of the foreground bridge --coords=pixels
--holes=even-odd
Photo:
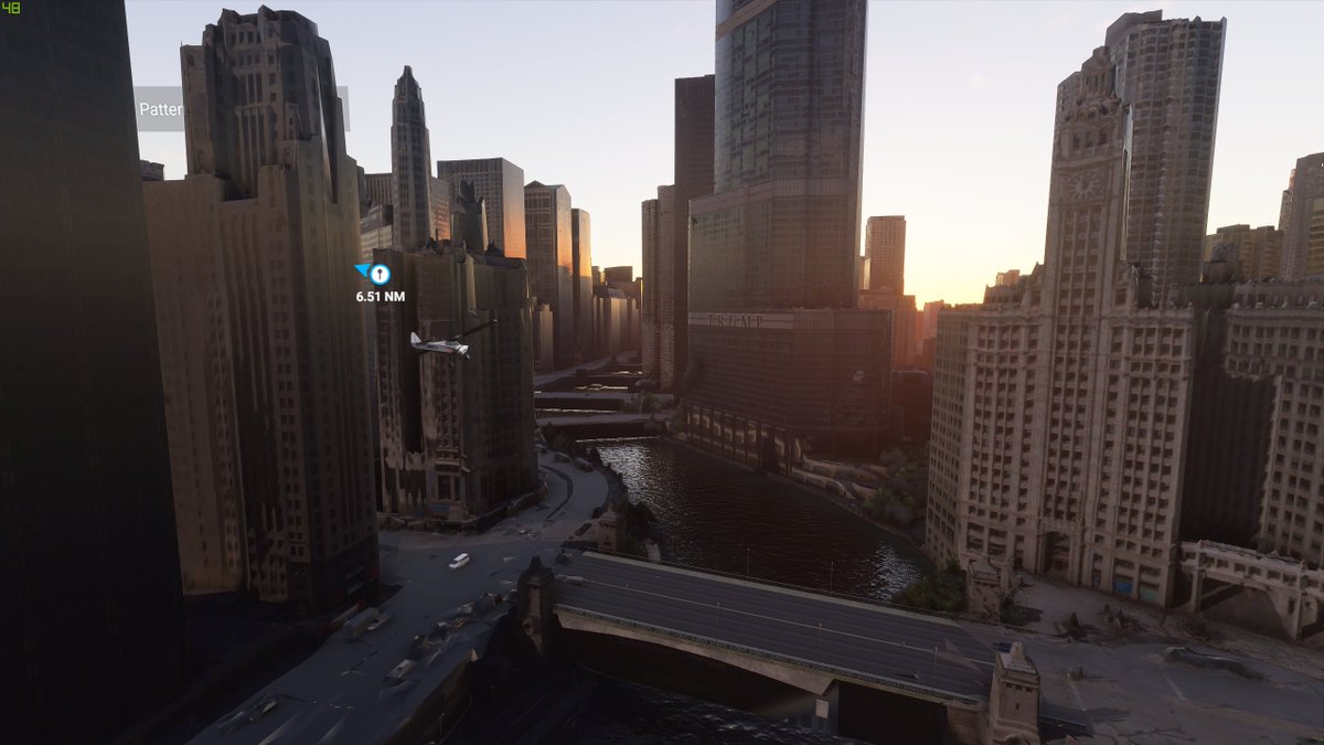
[[[658,518],[667,562],[890,599],[919,574],[886,532],[794,485],[659,439],[598,448]],[[604,681],[576,742],[847,742],[747,712],[624,681]]]

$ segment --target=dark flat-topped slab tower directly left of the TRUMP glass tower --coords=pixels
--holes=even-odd
[[[716,76],[677,78],[675,81],[675,166],[670,195],[671,227],[662,236],[663,252],[671,257],[669,273],[670,312],[659,318],[663,343],[671,350],[670,362],[662,365],[662,388],[674,390],[688,369],[690,331],[690,201],[712,194],[714,105]],[[662,199],[662,192],[658,192]],[[653,282],[653,274],[643,273]],[[657,286],[657,285],[653,285]],[[663,309],[665,310],[665,309]]]

